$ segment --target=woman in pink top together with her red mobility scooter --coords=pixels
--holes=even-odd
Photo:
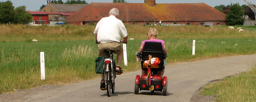
[[[136,75],[135,94],[138,94],[139,90],[163,91],[163,95],[167,93],[167,77],[163,77],[164,66],[166,65],[164,59],[167,57],[167,50],[164,41],[157,39],[157,35],[157,29],[150,28],[148,40],[142,42],[136,53],[137,61],[141,61],[142,75],[141,77]],[[159,59],[159,61],[155,59]],[[153,61],[153,64],[150,60],[158,62],[157,65],[154,66],[155,62]],[[147,61],[148,64],[146,64]]]

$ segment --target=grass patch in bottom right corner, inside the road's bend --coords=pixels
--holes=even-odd
[[[215,95],[217,102],[256,102],[256,67],[250,71],[208,84],[200,92]]]

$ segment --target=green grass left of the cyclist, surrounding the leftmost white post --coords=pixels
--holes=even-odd
[[[1,91],[91,79],[97,56],[89,41],[1,42]],[[86,43],[86,44],[85,44]],[[45,52],[46,80],[40,80],[39,53]],[[82,72],[82,73],[81,73]]]

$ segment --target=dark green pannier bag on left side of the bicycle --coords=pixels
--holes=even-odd
[[[95,62],[95,72],[101,74],[104,72],[104,58],[105,57],[98,57],[96,58]]]

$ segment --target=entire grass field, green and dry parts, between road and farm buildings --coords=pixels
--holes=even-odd
[[[99,74],[95,73],[95,26],[38,27],[11,24],[0,27],[0,93],[44,84],[61,85],[99,78]],[[127,26],[129,38],[135,40],[128,40],[128,66],[122,66],[124,73],[140,69],[135,53],[141,41],[147,39],[148,28]],[[240,33],[226,26],[155,28],[159,31],[158,38],[165,41],[168,64],[256,53],[256,27],[242,27],[245,30]],[[38,42],[32,42],[32,39]],[[192,40],[196,40],[196,55],[192,55]],[[40,52],[45,53],[46,80],[40,78]]]

